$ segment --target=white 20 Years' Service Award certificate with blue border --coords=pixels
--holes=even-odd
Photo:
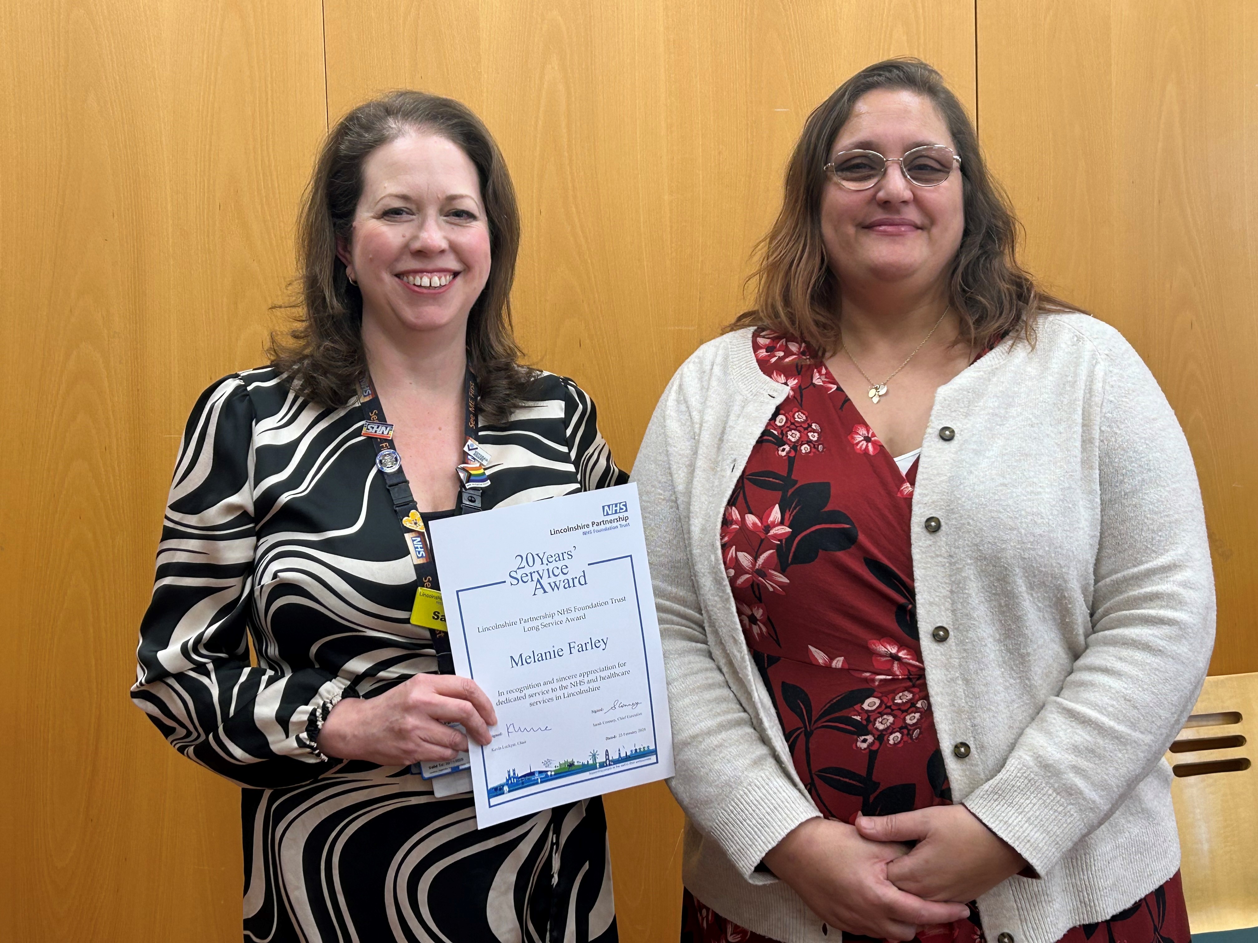
[[[478,827],[672,776],[638,487],[429,526],[454,665],[498,713]]]

